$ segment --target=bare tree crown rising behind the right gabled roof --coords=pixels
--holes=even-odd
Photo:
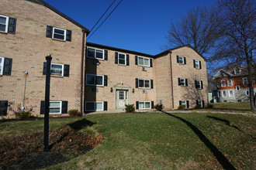
[[[206,8],[192,8],[180,22],[171,22],[167,48],[189,44],[200,54],[207,53],[216,39],[215,29],[209,21]]]

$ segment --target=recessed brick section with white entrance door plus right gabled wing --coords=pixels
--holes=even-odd
[[[85,111],[186,108],[208,103],[206,59],[191,46],[151,56],[87,42]]]

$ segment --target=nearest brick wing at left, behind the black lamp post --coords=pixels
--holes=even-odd
[[[23,106],[43,113],[44,62],[50,53],[50,112],[64,114],[81,103],[81,51],[88,29],[41,0],[0,3],[0,115]],[[26,74],[28,73],[28,74]],[[54,102],[55,101],[55,102]],[[8,107],[7,107],[8,106]],[[40,109],[42,108],[42,109]]]

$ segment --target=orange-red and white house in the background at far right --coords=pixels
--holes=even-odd
[[[250,93],[246,66],[220,70],[213,77],[217,81],[217,97],[220,102],[249,102]],[[256,83],[254,83],[256,93]]]

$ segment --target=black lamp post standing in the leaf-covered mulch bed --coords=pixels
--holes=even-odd
[[[43,134],[43,151],[49,151],[49,107],[50,107],[50,62],[51,55],[48,54],[47,59],[47,76],[45,83],[45,99],[44,99],[44,134]]]

